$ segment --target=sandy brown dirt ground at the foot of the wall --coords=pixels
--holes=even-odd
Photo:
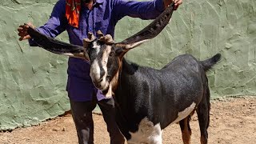
[[[255,144],[256,98],[222,98],[211,101],[209,143]],[[200,142],[198,121],[194,114],[190,122],[191,143]],[[110,143],[102,115],[94,114],[94,143]],[[163,130],[163,143],[182,143],[177,124]],[[0,133],[1,144],[70,144],[78,143],[70,114],[42,122],[39,126],[18,128]]]

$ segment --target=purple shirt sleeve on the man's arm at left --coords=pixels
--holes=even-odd
[[[64,30],[66,30],[66,1],[65,0],[59,0],[50,14],[50,18],[48,22],[46,22],[45,25],[37,27],[36,30],[41,32],[42,34],[46,34],[47,36],[50,36],[52,38],[55,38],[58,36],[58,34],[61,34]],[[38,46],[33,38],[29,39],[30,46]]]

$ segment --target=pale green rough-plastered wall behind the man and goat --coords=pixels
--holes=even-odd
[[[0,130],[34,125],[70,109],[65,91],[67,58],[19,42],[16,30],[24,22],[44,24],[55,2],[0,2]],[[123,18],[116,27],[115,41],[148,23]],[[58,39],[67,42],[66,34]],[[157,38],[130,50],[126,57],[161,68],[178,54],[205,59],[218,52],[222,62],[208,73],[212,98],[256,95],[255,0],[184,0]]]

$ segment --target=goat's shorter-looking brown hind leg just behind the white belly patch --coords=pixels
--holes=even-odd
[[[190,115],[179,122],[182,130],[182,140],[184,144],[190,144],[191,129],[190,129]]]

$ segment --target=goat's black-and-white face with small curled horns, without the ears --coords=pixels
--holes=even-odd
[[[111,35],[105,36],[101,31],[98,31],[98,39],[89,34],[83,43],[90,60],[90,78],[94,86],[102,90],[106,97],[112,95],[118,84],[123,50],[115,46]]]

